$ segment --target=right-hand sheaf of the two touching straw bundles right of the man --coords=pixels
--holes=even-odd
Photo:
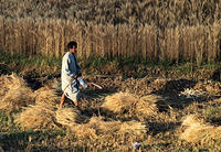
[[[144,116],[151,116],[158,112],[157,104],[161,101],[162,98],[156,95],[144,96],[136,104],[136,112]]]

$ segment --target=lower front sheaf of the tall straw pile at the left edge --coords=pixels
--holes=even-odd
[[[13,111],[34,104],[35,96],[29,88],[10,89],[0,100],[0,110]]]

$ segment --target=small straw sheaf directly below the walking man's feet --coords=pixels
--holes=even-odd
[[[80,110],[75,108],[62,108],[56,111],[56,121],[63,126],[73,127],[86,120],[87,118],[81,116]]]

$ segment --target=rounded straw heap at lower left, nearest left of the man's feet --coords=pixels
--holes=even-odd
[[[55,128],[55,112],[43,106],[30,106],[15,119],[15,123],[24,129],[50,129]]]

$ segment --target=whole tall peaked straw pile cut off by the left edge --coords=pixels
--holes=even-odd
[[[0,110],[13,111],[34,104],[35,95],[25,82],[12,74],[0,78]]]

